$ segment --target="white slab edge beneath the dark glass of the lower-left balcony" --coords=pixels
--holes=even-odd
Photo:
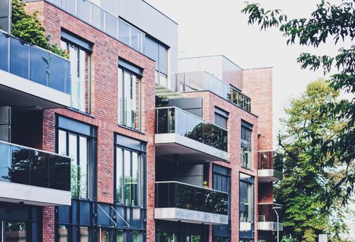
[[[71,205],[71,193],[59,189],[0,181],[0,201],[37,206]]]

